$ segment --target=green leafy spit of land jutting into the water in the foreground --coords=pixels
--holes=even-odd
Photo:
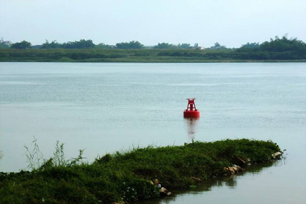
[[[159,197],[163,188],[194,188],[282,152],[272,141],[226,139],[132,148],[86,163],[83,150],[66,160],[64,145],[58,142],[54,156],[45,160],[33,142],[33,150],[26,147],[31,171],[0,172],[0,203],[131,203]]]

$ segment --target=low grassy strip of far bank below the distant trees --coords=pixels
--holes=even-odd
[[[306,56],[236,49],[0,49],[0,62],[306,62]]]

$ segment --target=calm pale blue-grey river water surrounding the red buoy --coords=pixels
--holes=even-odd
[[[183,118],[196,98],[198,120]],[[143,203],[306,203],[306,63],[0,63],[0,171],[45,158],[226,138],[273,140],[286,159]]]

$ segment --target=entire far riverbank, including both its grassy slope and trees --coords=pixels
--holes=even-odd
[[[287,36],[275,36],[261,44],[248,42],[239,48],[226,48],[218,42],[208,48],[197,43],[144,46],[138,41],[95,45],[84,39],[67,43],[46,40],[35,46],[27,41],[3,42],[0,62],[306,62],[306,43]]]

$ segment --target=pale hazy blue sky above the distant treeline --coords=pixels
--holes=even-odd
[[[306,0],[0,0],[0,37],[239,47],[288,33],[306,42]]]

